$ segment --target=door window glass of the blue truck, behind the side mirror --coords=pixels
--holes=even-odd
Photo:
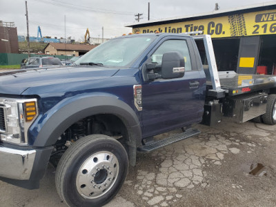
[[[175,39],[167,40],[159,46],[159,48],[152,54],[151,61],[152,63],[161,64],[163,54],[165,52],[177,51],[183,56],[185,60],[185,70],[192,70],[190,63],[190,53],[188,50],[187,42],[185,40]]]

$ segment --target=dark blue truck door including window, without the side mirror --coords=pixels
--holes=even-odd
[[[155,79],[142,85],[143,136],[181,128],[199,122],[203,113],[204,75],[197,67],[192,41],[188,37],[166,37],[148,55],[146,63],[161,64],[164,52],[177,51],[185,59],[184,77]],[[145,63],[145,64],[146,64]],[[204,85],[204,86],[203,86]]]

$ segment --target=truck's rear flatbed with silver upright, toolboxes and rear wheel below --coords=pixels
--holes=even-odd
[[[210,35],[193,36],[203,40],[208,65],[206,99],[202,123],[214,126],[222,118],[243,123],[248,120],[276,124],[276,77],[273,75],[237,74],[235,71],[217,71]]]

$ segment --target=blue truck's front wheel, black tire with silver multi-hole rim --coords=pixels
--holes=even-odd
[[[106,135],[89,135],[66,150],[57,166],[55,182],[68,206],[103,206],[117,195],[127,173],[124,146]]]

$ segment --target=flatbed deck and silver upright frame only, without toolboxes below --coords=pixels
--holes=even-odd
[[[237,74],[235,71],[217,71],[213,43],[210,35],[199,34],[193,37],[203,40],[208,65],[204,65],[207,96],[218,99],[226,96],[242,95],[276,88],[276,76]]]

